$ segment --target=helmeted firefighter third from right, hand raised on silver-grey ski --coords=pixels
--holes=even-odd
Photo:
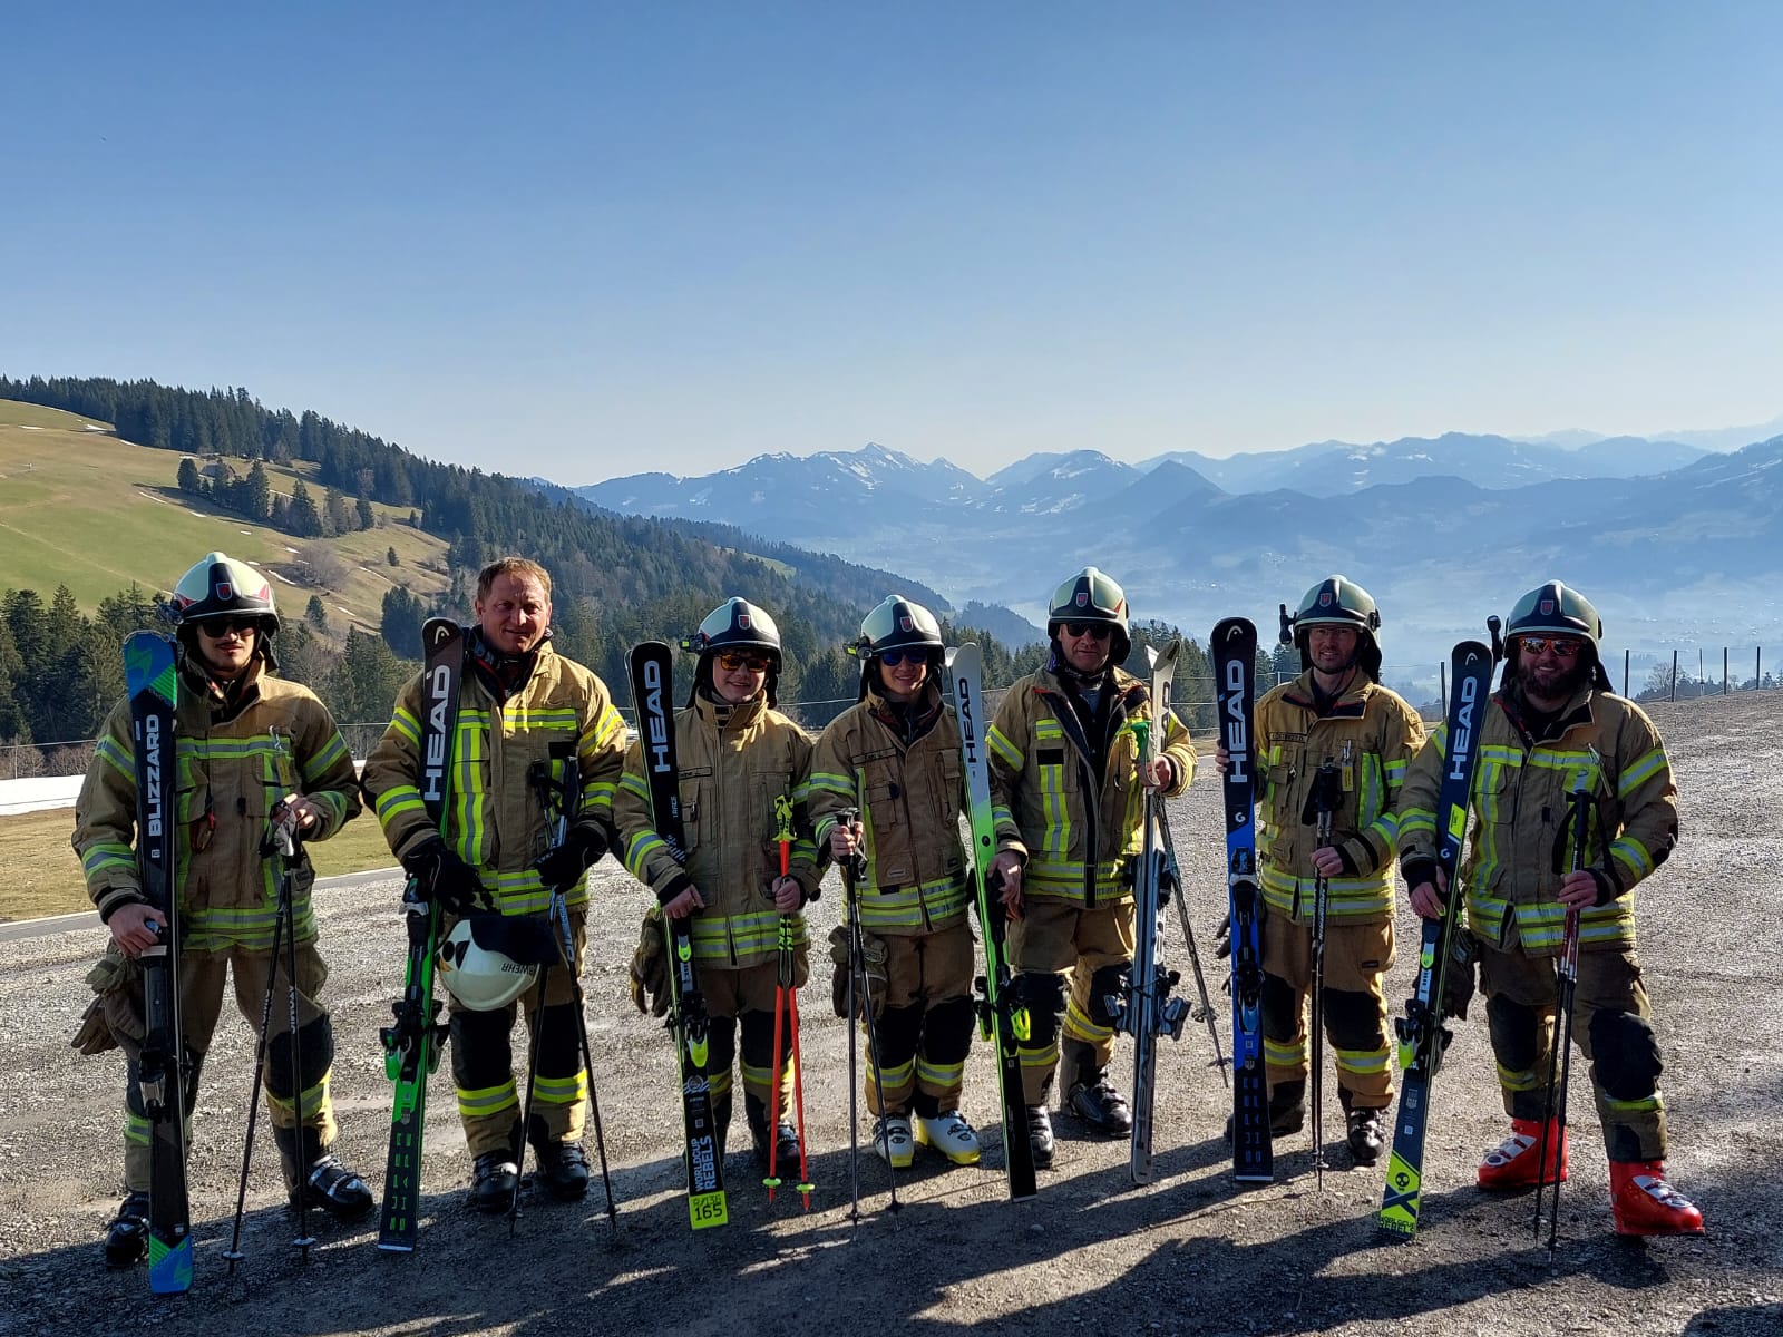
[[[1052,1164],[1047,1103],[1064,1100],[1091,1128],[1127,1136],[1132,1112],[1107,1077],[1107,998],[1132,966],[1132,877],[1143,788],[1175,797],[1195,777],[1195,747],[1171,715],[1152,720],[1150,688],[1120,668],[1130,649],[1127,597],[1095,567],[1057,588],[1047,611],[1047,667],[1011,686],[986,736],[997,857],[1009,906],[1009,961],[1029,1011],[1020,1043],[1034,1164]],[[1143,775],[1130,720],[1150,720],[1159,754]],[[1063,1021],[1063,1045],[1061,1045]]]

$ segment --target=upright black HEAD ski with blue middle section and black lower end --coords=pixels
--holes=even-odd
[[[1257,881],[1257,627],[1243,617],[1214,626],[1214,693],[1227,772],[1227,897],[1232,915],[1232,1178],[1275,1178],[1269,1143],[1269,1071],[1262,1057],[1262,886]]]

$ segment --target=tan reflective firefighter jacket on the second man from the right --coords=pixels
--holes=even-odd
[[[1346,872],[1325,882],[1325,918],[1330,923],[1393,918],[1393,852],[1400,836],[1394,808],[1405,770],[1425,743],[1425,722],[1398,693],[1366,674],[1355,677],[1323,715],[1311,668],[1257,702],[1262,898],[1271,915],[1296,923],[1312,923],[1318,827],[1309,820],[1309,799],[1327,763],[1337,781],[1332,843],[1343,852]]]

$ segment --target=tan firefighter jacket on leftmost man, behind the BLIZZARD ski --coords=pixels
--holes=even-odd
[[[136,834],[136,745],[130,702],[105,720],[75,802],[75,852],[87,893],[109,918],[143,904],[130,841]],[[255,658],[234,699],[180,656],[175,738],[175,886],[180,947],[187,952],[269,952],[278,920],[280,859],[262,852],[267,815],[287,793],[323,811],[305,841],[326,840],[358,815],[353,758],[316,693],[266,672]],[[300,850],[292,884],[298,943],[316,938],[310,886],[316,870]]]

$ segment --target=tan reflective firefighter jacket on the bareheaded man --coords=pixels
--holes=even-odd
[[[612,829],[613,788],[626,756],[626,724],[606,685],[558,654],[549,640],[533,656],[531,674],[506,701],[465,656],[444,831],[428,818],[421,799],[421,676],[403,688],[390,726],[366,758],[366,795],[390,850],[401,859],[428,836],[444,834],[453,854],[476,868],[503,915],[551,907],[551,888],[533,866],[551,849],[555,827],[538,781],[563,779],[563,761],[553,759],[551,745],[572,743],[576,751],[581,809],[571,816],[603,829]],[[587,875],[563,900],[587,904]]]

